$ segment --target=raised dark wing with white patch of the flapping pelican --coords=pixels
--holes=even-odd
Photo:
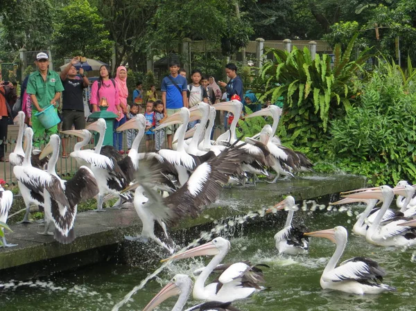
[[[229,177],[241,169],[244,153],[240,146],[227,148],[218,157],[198,166],[182,188],[164,199],[166,206],[174,211],[174,217],[168,221],[174,223],[189,215],[196,217],[204,206],[215,202]]]

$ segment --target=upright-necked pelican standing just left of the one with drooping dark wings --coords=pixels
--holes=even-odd
[[[17,179],[17,185],[23,197],[24,204],[26,206],[26,213],[21,222],[31,222],[28,220],[28,215],[30,213],[31,204],[36,204],[37,206],[43,206],[44,197],[43,197],[43,186],[39,189],[33,187],[32,180],[28,178],[29,175],[36,175],[36,172],[43,173],[43,170],[34,168],[31,163],[31,153],[32,153],[32,141],[33,141],[33,130],[31,127],[27,127],[24,130],[24,137],[26,141],[26,151],[24,154],[24,160],[21,163],[21,166],[13,167],[13,174]],[[46,172],[44,172],[46,174]]]

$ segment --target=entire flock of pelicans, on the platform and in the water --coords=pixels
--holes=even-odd
[[[42,151],[33,150],[33,131],[30,127],[24,129],[24,114],[19,113],[15,120],[19,123],[19,136],[15,150],[10,154],[10,162],[14,166],[13,172],[26,204],[24,222],[28,222],[31,204],[42,206],[45,224],[44,231],[40,234],[53,235],[61,243],[70,243],[76,238],[73,226],[77,204],[83,199],[96,197],[96,211],[105,211],[105,199],[116,197],[117,208],[124,202],[132,201],[143,223],[140,236],[126,238],[144,241],[150,238],[173,254],[175,244],[168,236],[168,226],[184,217],[200,215],[203,208],[215,202],[225,184],[244,184],[250,177],[254,181],[258,174],[270,177],[270,169],[276,173],[273,181],[280,176],[291,177],[295,172],[311,169],[311,162],[304,154],[285,148],[273,136],[281,115],[281,109],[274,105],[246,116],[271,116],[273,124],[263,127],[259,134],[245,138],[244,142],[236,137],[239,118],[234,118],[229,130],[216,141],[209,139],[216,110],[226,110],[239,116],[242,109],[243,105],[236,100],[212,106],[199,103],[191,109],[182,108],[155,129],[180,125],[174,136],[174,150],[163,149],[150,153],[139,152],[146,130],[146,119],[139,114],[116,129],[138,130],[132,148],[124,158],[120,158],[112,148],[103,146],[106,130],[103,119],[98,119],[85,130],[65,131],[64,134],[79,138],[70,157],[76,159],[80,168],[69,180],[61,179],[55,172],[60,156],[60,136],[52,135]],[[200,124],[187,132],[189,121],[198,119]],[[99,134],[96,148],[92,150],[86,149],[92,138],[89,131]],[[365,202],[367,208],[358,217],[354,234],[365,236],[367,242],[374,245],[408,247],[416,244],[414,193],[413,186],[400,181],[395,188],[381,186],[343,193],[345,198],[333,204]],[[400,211],[389,209],[395,195],[399,195],[397,206]],[[12,204],[11,192],[0,187],[0,201],[0,221],[6,222]],[[383,202],[381,208],[375,208],[379,201]],[[284,228],[275,235],[279,254],[308,254],[309,237],[327,238],[336,244],[336,250],[320,279],[322,288],[354,294],[395,290],[381,283],[385,271],[370,258],[355,257],[338,265],[347,245],[347,230],[343,226],[308,232],[306,226],[292,224],[297,206],[290,195],[266,213],[282,210],[288,211],[288,215]],[[156,225],[162,228],[161,236],[155,234]],[[13,245],[3,238],[3,246]],[[265,280],[259,267],[261,265],[249,262],[221,264],[229,249],[229,241],[218,237],[205,245],[166,259],[213,256],[207,267],[193,272],[198,276],[195,285],[189,276],[178,274],[144,310],[153,310],[159,303],[177,294],[180,296],[173,310],[182,310],[192,292],[194,299],[208,302],[187,310],[236,311],[231,305],[232,301],[245,299],[254,292],[263,290]],[[218,277],[205,285],[211,274],[217,274]]]

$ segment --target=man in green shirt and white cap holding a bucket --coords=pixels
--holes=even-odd
[[[58,133],[58,125],[45,129],[39,119],[35,116],[37,112],[42,112],[49,105],[58,108],[61,92],[64,90],[60,76],[55,71],[49,70],[49,57],[46,53],[36,55],[37,71],[31,74],[28,80],[27,94],[31,95],[32,100],[32,128],[34,145],[39,147],[44,140],[45,134]]]

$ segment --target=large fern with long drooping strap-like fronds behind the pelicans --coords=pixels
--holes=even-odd
[[[361,65],[370,57],[364,51],[357,60],[350,60],[356,36],[349,42],[345,53],[340,46],[335,48],[335,64],[331,69],[327,55],[316,55],[311,60],[308,48],[296,48],[288,53],[272,49],[261,69],[263,96],[271,96],[272,103],[284,96],[284,114],[279,128],[282,141],[295,147],[307,147],[324,152],[328,137],[328,122],[345,114],[356,95],[354,77]]]

